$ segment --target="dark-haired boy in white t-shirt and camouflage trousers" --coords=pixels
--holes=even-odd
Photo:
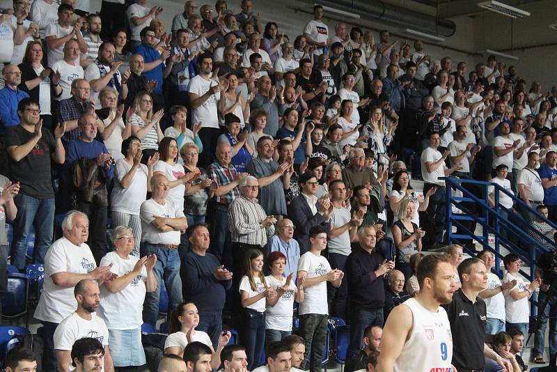
[[[315,179],[315,177],[313,177]],[[309,229],[309,251],[300,257],[297,280],[303,281],[304,302],[299,305],[299,334],[306,340],[304,362],[300,369],[311,372],[321,370],[325,341],[327,340],[327,281],[337,288],[343,281],[344,272],[331,269],[321,252],[327,247],[327,230],[320,225]],[[310,361],[311,352],[311,361]]]

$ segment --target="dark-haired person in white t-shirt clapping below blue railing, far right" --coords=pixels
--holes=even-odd
[[[510,253],[503,258],[505,265],[505,274],[501,283],[508,281],[516,281],[515,286],[504,290],[505,296],[505,328],[510,330],[516,328],[522,334],[528,334],[528,323],[530,322],[530,302],[528,299],[532,293],[542,284],[540,279],[535,279],[528,286],[524,284],[522,276],[519,274],[522,260],[514,253]],[[535,355],[535,360],[538,360],[540,355]],[[543,359],[543,356],[541,356]]]

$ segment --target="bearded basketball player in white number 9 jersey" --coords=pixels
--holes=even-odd
[[[453,298],[453,268],[446,256],[431,254],[418,264],[417,272],[420,292],[395,307],[387,319],[378,371],[449,371],[452,367],[450,323],[439,305],[450,304]]]

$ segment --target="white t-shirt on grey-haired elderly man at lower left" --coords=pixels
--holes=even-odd
[[[87,274],[97,268],[95,258],[86,243],[80,247],[67,238],[52,243],[45,255],[45,286],[35,311],[35,318],[60,323],[77,309],[74,287],[56,286],[52,275],[57,272]],[[71,348],[70,348],[71,349]]]

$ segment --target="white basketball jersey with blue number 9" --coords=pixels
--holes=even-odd
[[[414,325],[400,356],[395,372],[452,372],[453,336],[445,309],[434,313],[411,298],[399,306],[407,306],[414,316]]]

